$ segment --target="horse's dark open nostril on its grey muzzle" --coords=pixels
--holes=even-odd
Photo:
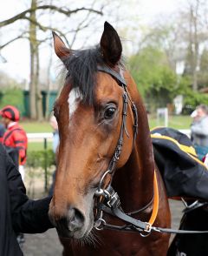
[[[75,231],[83,226],[85,218],[78,209],[69,208],[67,219],[69,231]]]

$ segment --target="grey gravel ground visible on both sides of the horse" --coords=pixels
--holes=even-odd
[[[179,220],[184,208],[180,201],[170,200],[172,211],[172,228],[179,227]],[[61,256],[62,246],[57,237],[55,229],[42,234],[25,234],[23,245],[25,256]]]

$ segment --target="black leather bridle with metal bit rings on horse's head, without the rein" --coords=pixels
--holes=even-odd
[[[114,176],[114,171],[115,171],[115,167],[116,167],[116,163],[119,161],[120,159],[120,153],[122,150],[122,146],[123,146],[123,138],[124,138],[124,132],[126,132],[127,136],[127,128],[126,128],[126,123],[127,123],[127,104],[128,104],[128,100],[131,103],[131,109],[133,111],[133,146],[135,143],[135,139],[137,137],[137,133],[138,133],[138,113],[137,113],[137,108],[135,106],[135,104],[133,103],[132,99],[130,98],[130,95],[127,91],[127,83],[122,75],[122,71],[120,70],[120,73],[117,73],[116,71],[108,68],[107,66],[98,66],[98,71],[101,72],[105,72],[107,74],[109,74],[111,77],[113,77],[117,83],[123,88],[123,110],[122,110],[122,122],[121,122],[121,127],[120,127],[120,136],[117,142],[117,145],[115,147],[115,151],[114,151],[114,155],[111,158],[109,165],[107,167],[107,171],[104,172],[104,174],[101,177],[101,181],[98,185],[98,188],[96,190],[96,192],[94,193],[95,197],[97,197],[97,206],[96,206],[96,217],[95,217],[95,228],[98,230],[103,229],[103,227],[107,227],[106,221],[104,219],[102,219],[102,215],[103,212],[107,212],[112,214],[112,211],[109,211],[109,209],[114,209],[114,215],[116,215],[119,219],[123,219],[123,220],[127,220],[127,219],[133,219],[132,217],[130,217],[131,215],[138,213],[138,212],[142,212],[144,210],[146,210],[146,208],[148,208],[150,205],[153,204],[153,198],[151,199],[151,201],[145,205],[144,207],[142,207],[140,210],[135,211],[135,212],[129,212],[129,213],[124,213],[120,207],[120,199],[118,196],[117,192],[114,192],[114,189],[112,187],[112,180],[113,180],[113,176]],[[104,179],[107,177],[107,175],[110,175],[111,179],[107,185],[107,187],[103,187],[104,185]],[[156,179],[156,176],[155,176]],[[117,212],[117,213],[115,213]],[[156,219],[156,215],[157,215],[158,210],[156,211],[156,213],[154,214],[155,217],[154,219]],[[125,216],[127,214],[127,217]],[[153,219],[153,221],[154,221]],[[143,226],[143,230],[144,232],[148,232],[150,230],[150,226],[151,224],[149,223],[144,223]],[[109,225],[108,225],[109,227]],[[111,226],[113,227],[113,226]],[[114,228],[116,228],[114,226]],[[119,227],[120,229],[120,227]],[[122,228],[123,230],[127,230],[129,229],[129,225],[125,226]],[[145,235],[144,233],[140,233],[141,235]]]

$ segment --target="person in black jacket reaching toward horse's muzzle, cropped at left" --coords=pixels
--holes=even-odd
[[[30,200],[20,172],[0,144],[0,255],[23,256],[16,232],[45,232],[49,221],[50,197]]]

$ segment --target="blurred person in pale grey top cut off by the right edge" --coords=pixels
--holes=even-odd
[[[191,117],[193,118],[191,125],[192,143],[198,158],[202,159],[208,152],[208,107],[205,104],[198,105]]]

